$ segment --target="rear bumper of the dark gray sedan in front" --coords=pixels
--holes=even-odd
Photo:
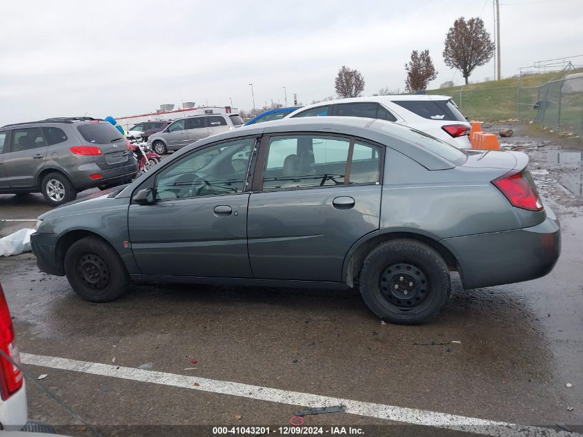
[[[550,208],[546,215],[529,228],[442,240],[460,264],[464,288],[513,284],[550,273],[561,253],[561,230]]]

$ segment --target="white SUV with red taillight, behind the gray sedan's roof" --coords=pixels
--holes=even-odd
[[[387,120],[421,130],[455,147],[471,148],[468,137],[471,125],[451,97],[444,95],[384,95],[323,101],[295,110],[286,118],[327,115]]]

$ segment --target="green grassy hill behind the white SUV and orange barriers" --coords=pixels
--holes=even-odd
[[[575,72],[580,71],[582,70]],[[548,72],[520,78],[508,77],[500,81],[426,90],[426,93],[453,97],[462,113],[469,119],[485,122],[521,119],[530,122],[537,114],[533,104],[539,100],[539,87],[553,79],[560,79],[564,74]]]

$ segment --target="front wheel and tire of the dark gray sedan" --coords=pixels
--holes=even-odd
[[[65,254],[65,274],[72,289],[90,302],[114,300],[130,284],[121,258],[99,237],[85,237],[70,246]]]

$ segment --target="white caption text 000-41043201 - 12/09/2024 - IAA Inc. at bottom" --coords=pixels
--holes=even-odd
[[[359,427],[340,427],[340,426],[328,426],[328,427],[302,427],[302,426],[292,426],[292,427],[253,427],[253,426],[241,426],[241,427],[213,427],[213,435],[238,435],[238,436],[266,436],[268,434],[280,434],[286,435],[333,435],[333,436],[362,436],[364,431]]]

